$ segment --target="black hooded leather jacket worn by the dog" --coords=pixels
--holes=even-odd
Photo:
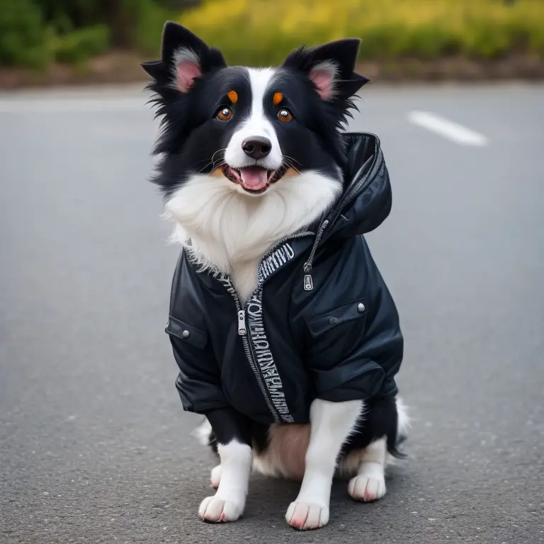
[[[198,271],[182,252],[166,332],[184,409],[233,407],[265,424],[302,423],[315,398],[397,393],[399,318],[363,237],[389,215],[389,175],[378,137],[344,137],[341,198],[263,257],[245,304],[228,276]]]

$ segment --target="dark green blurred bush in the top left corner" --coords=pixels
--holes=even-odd
[[[0,65],[84,64],[111,47],[157,54],[162,26],[196,0],[0,0]]]

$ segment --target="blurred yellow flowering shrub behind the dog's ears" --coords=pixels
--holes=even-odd
[[[208,0],[179,23],[231,64],[346,37],[361,38],[361,60],[544,52],[544,0]]]

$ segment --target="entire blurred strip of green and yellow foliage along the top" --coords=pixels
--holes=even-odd
[[[358,37],[361,60],[544,53],[544,0],[0,0],[0,64],[45,69],[110,50],[157,57],[174,19],[228,62]]]

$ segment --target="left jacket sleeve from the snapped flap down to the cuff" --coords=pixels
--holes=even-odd
[[[176,388],[183,409],[205,414],[229,407],[221,386],[220,369],[208,344],[208,334],[172,316],[166,333],[179,366]]]

